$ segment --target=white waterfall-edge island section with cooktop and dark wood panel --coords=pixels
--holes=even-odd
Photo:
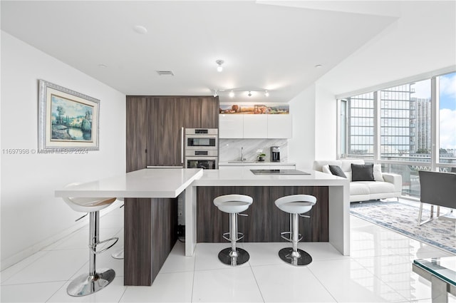
[[[306,241],[330,242],[342,255],[350,254],[349,183],[346,178],[306,170],[308,175],[254,175],[249,168],[204,170],[201,178],[185,190],[185,255],[191,256],[197,242],[221,242],[227,232],[227,216],[211,202],[228,193],[254,197],[249,217],[238,221],[245,242],[278,242],[288,230],[288,215],[280,213],[274,200],[283,195],[309,194],[317,204],[300,220]],[[243,229],[244,228],[244,229]],[[224,242],[224,241],[223,241]]]

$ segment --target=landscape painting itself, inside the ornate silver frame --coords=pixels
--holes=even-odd
[[[92,140],[93,106],[51,95],[51,140]]]

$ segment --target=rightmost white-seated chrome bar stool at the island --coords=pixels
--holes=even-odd
[[[308,265],[312,262],[312,257],[304,250],[298,249],[298,242],[302,240],[299,234],[299,217],[309,217],[302,215],[309,212],[312,206],[316,204],[316,197],[313,195],[287,195],[280,197],[275,202],[277,207],[290,214],[290,231],[281,232],[280,235],[285,240],[292,242],[293,247],[286,247],[279,250],[279,257],[284,262],[294,266]],[[289,237],[285,237],[289,235]]]

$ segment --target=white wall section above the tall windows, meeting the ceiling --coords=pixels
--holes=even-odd
[[[455,66],[455,53],[455,1],[400,1],[397,21],[317,82],[344,95]]]

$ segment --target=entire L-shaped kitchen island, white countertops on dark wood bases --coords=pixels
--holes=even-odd
[[[276,212],[274,197],[284,193],[292,194],[295,190],[315,194],[319,199],[317,205],[320,204],[321,206],[318,207],[321,208],[316,212],[311,211],[313,218],[310,221],[307,220],[311,222],[311,225],[305,225],[308,227],[307,230],[318,241],[330,242],[342,255],[349,255],[348,180],[313,170],[307,170],[307,172],[309,175],[254,175],[248,168],[230,170],[152,168],[83,183],[71,188],[62,188],[56,190],[55,194],[56,197],[125,198],[124,284],[147,286],[152,284],[177,240],[177,199],[175,198],[184,191],[185,255],[187,256],[193,255],[197,244],[197,225],[207,226],[209,222],[205,220],[207,217],[204,217],[204,210],[217,211],[217,207],[212,204],[212,198],[205,196],[207,190],[211,195],[218,195],[217,190],[220,193],[246,190],[253,196],[257,196],[260,192],[261,195],[257,197],[261,198],[254,200],[251,208],[262,213],[252,214],[251,217],[246,218],[248,222],[255,222],[252,226],[259,226],[257,225],[259,220],[269,220],[270,213]],[[199,196],[197,192],[200,192]],[[197,217],[198,204],[201,204],[199,205],[201,222],[198,222]],[[284,226],[284,220],[279,219],[278,222],[278,226],[271,224],[271,220],[261,225],[263,227],[259,229],[252,228],[251,232],[254,234],[251,237],[252,241],[275,241],[274,228],[279,230]],[[313,228],[314,226],[322,226],[323,229],[326,228],[326,232],[321,232]],[[220,230],[226,228],[227,225],[226,227],[223,224],[219,225]],[[219,234],[219,231],[212,226],[202,227],[199,230],[200,232],[212,230],[212,235]],[[203,239],[201,242],[215,241]]]

